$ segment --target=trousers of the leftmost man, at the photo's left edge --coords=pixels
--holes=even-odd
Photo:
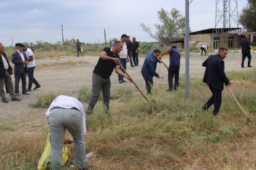
[[[0,97],[1,99],[5,98],[5,92],[3,90],[3,86],[5,84],[6,90],[10,93],[10,96],[12,99],[16,98],[16,95],[14,94],[14,85],[12,84],[12,77],[9,73],[9,71],[5,71],[6,77],[0,78]]]

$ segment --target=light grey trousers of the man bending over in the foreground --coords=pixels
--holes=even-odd
[[[66,129],[74,139],[74,157],[76,168],[88,168],[85,159],[85,140],[83,139],[83,128],[81,115],[74,109],[53,109],[49,116],[50,142],[51,142],[51,165],[52,169],[58,169],[62,160],[63,141]]]

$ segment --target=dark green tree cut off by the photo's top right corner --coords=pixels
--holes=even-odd
[[[247,31],[256,31],[256,1],[248,0],[239,17],[239,22]]]

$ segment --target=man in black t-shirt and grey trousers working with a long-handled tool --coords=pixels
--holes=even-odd
[[[100,54],[100,58],[96,67],[94,68],[94,73],[92,74],[92,90],[91,98],[89,100],[88,108],[86,114],[92,114],[92,110],[96,105],[98,98],[100,97],[100,90],[102,90],[103,105],[105,114],[109,114],[109,96],[110,96],[110,75],[115,69],[115,73],[124,76],[128,80],[132,81],[132,77],[128,77],[119,68],[119,56],[118,53],[122,50],[122,41],[116,41],[113,48],[104,48]],[[110,116],[110,114],[109,114]]]

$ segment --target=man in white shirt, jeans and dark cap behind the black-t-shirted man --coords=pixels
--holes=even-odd
[[[120,58],[120,64],[124,67],[124,69],[126,69],[126,63],[129,63],[129,56],[128,56],[128,53],[127,53],[126,40],[127,40],[127,35],[123,34],[121,36],[121,39],[120,39],[120,41],[122,41],[122,43],[123,43],[123,49],[122,49],[122,51],[120,51],[118,53],[119,58]],[[122,67],[120,67],[120,69],[124,72]],[[126,82],[122,75],[118,75],[118,81],[119,81],[120,84],[122,84],[123,82]]]

